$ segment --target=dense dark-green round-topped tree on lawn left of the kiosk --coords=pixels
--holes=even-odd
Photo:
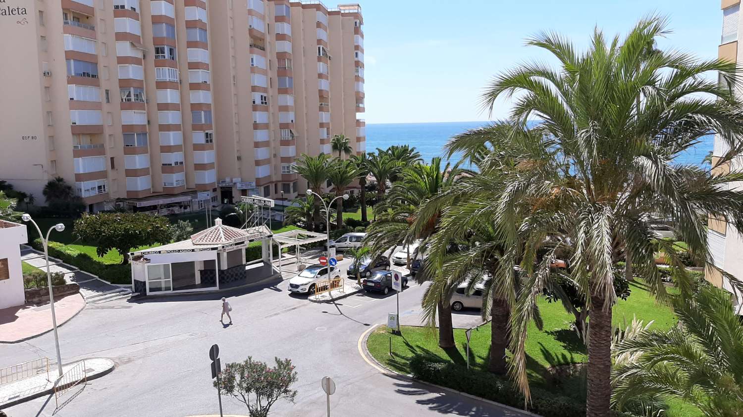
[[[74,234],[97,246],[98,256],[116,249],[121,263],[129,263],[129,250],[137,246],[168,243],[172,236],[168,219],[144,213],[83,214],[75,220]]]

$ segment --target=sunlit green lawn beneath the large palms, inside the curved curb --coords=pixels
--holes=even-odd
[[[633,315],[646,323],[655,320],[653,328],[668,329],[675,323],[671,309],[655,303],[655,298],[638,283],[630,283],[632,294],[626,301],[620,300],[614,306],[614,324],[623,326],[623,322],[632,321]],[[558,390],[562,395],[585,395],[585,381],[573,378],[554,387],[548,384],[545,376],[547,368],[555,365],[581,363],[587,360],[585,347],[577,334],[570,329],[573,316],[565,312],[559,303],[548,303],[542,298],[538,302],[544,327],[540,332],[531,324],[528,329],[526,352],[528,353],[529,377],[535,386],[548,390]],[[434,355],[444,361],[466,364],[467,338],[464,330],[455,329],[455,349],[438,347],[438,336],[435,331],[422,327],[403,326],[402,336],[392,335],[386,327],[380,327],[369,335],[367,347],[377,361],[398,372],[409,373],[409,361],[415,354]],[[392,338],[392,357],[389,355],[389,341]],[[470,340],[470,366],[487,370],[487,356],[490,349],[490,324],[481,326],[472,333]],[[580,395],[580,394],[579,394]],[[672,404],[669,417],[696,417],[693,407],[681,402]]]

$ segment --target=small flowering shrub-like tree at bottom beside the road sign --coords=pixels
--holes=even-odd
[[[247,406],[250,417],[266,417],[273,403],[281,399],[294,402],[296,390],[291,385],[297,380],[291,359],[275,358],[276,367],[265,362],[247,360],[227,364],[214,387],[237,398]]]

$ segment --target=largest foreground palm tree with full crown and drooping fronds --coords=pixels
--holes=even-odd
[[[513,310],[510,370],[528,395],[527,324],[535,317],[536,297],[548,285],[554,252],[569,243],[574,246],[571,280],[590,306],[587,417],[609,416],[611,306],[617,298],[613,268],[623,252],[632,254],[636,275],[656,297],[668,298],[653,259],[649,219],[657,214],[672,220],[697,254],[709,253],[706,222],[699,214],[743,226],[743,192],[727,188],[743,174],[712,176],[673,162],[710,132],[730,146],[722,163],[743,151],[741,103],[702,76],[716,71],[738,85],[736,65],[700,62],[677,51],[646,53],[646,45],[665,33],[666,21],[656,17],[642,19],[621,40],[607,41],[596,30],[585,53],[576,53],[560,36],[542,33],[528,43],[552,53],[560,68],[521,65],[493,79],[483,96],[492,111],[499,97],[516,94],[510,115],[516,125],[542,120],[534,128],[542,135],[509,135],[495,149],[521,154],[513,171],[506,177],[482,173],[499,184],[492,207],[479,213],[489,213],[505,241],[495,282],[509,282],[519,262],[529,276]],[[549,243],[548,236],[559,243]],[[545,250],[538,260],[537,252]],[[692,279],[678,257],[671,257],[676,285],[688,297]],[[706,259],[714,268],[711,257]]]

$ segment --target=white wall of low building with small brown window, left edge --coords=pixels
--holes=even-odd
[[[0,259],[7,259],[10,279],[0,280],[0,309],[26,303],[21,268],[22,243],[28,242],[26,226],[0,220]]]

